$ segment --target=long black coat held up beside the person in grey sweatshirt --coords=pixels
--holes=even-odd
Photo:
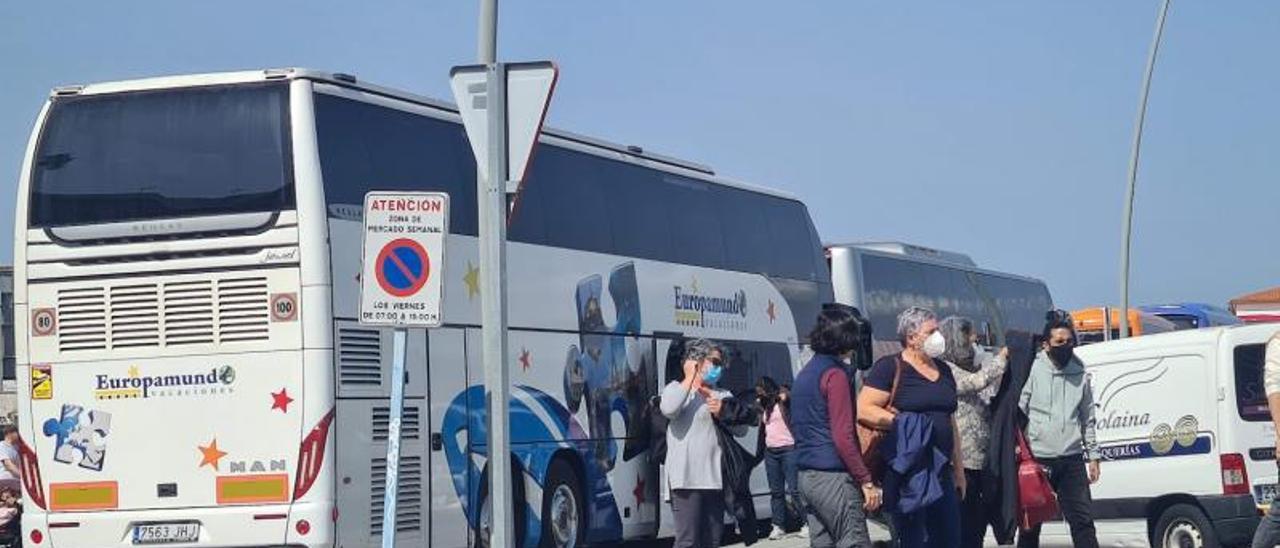
[[[1023,384],[1027,384],[1039,342],[1030,333],[1010,330],[1005,334],[1005,344],[1009,347],[1009,369],[991,402],[991,439],[983,470],[987,519],[1001,545],[1012,544],[1014,531],[1018,530],[1018,457],[1014,455],[1018,397]]]

